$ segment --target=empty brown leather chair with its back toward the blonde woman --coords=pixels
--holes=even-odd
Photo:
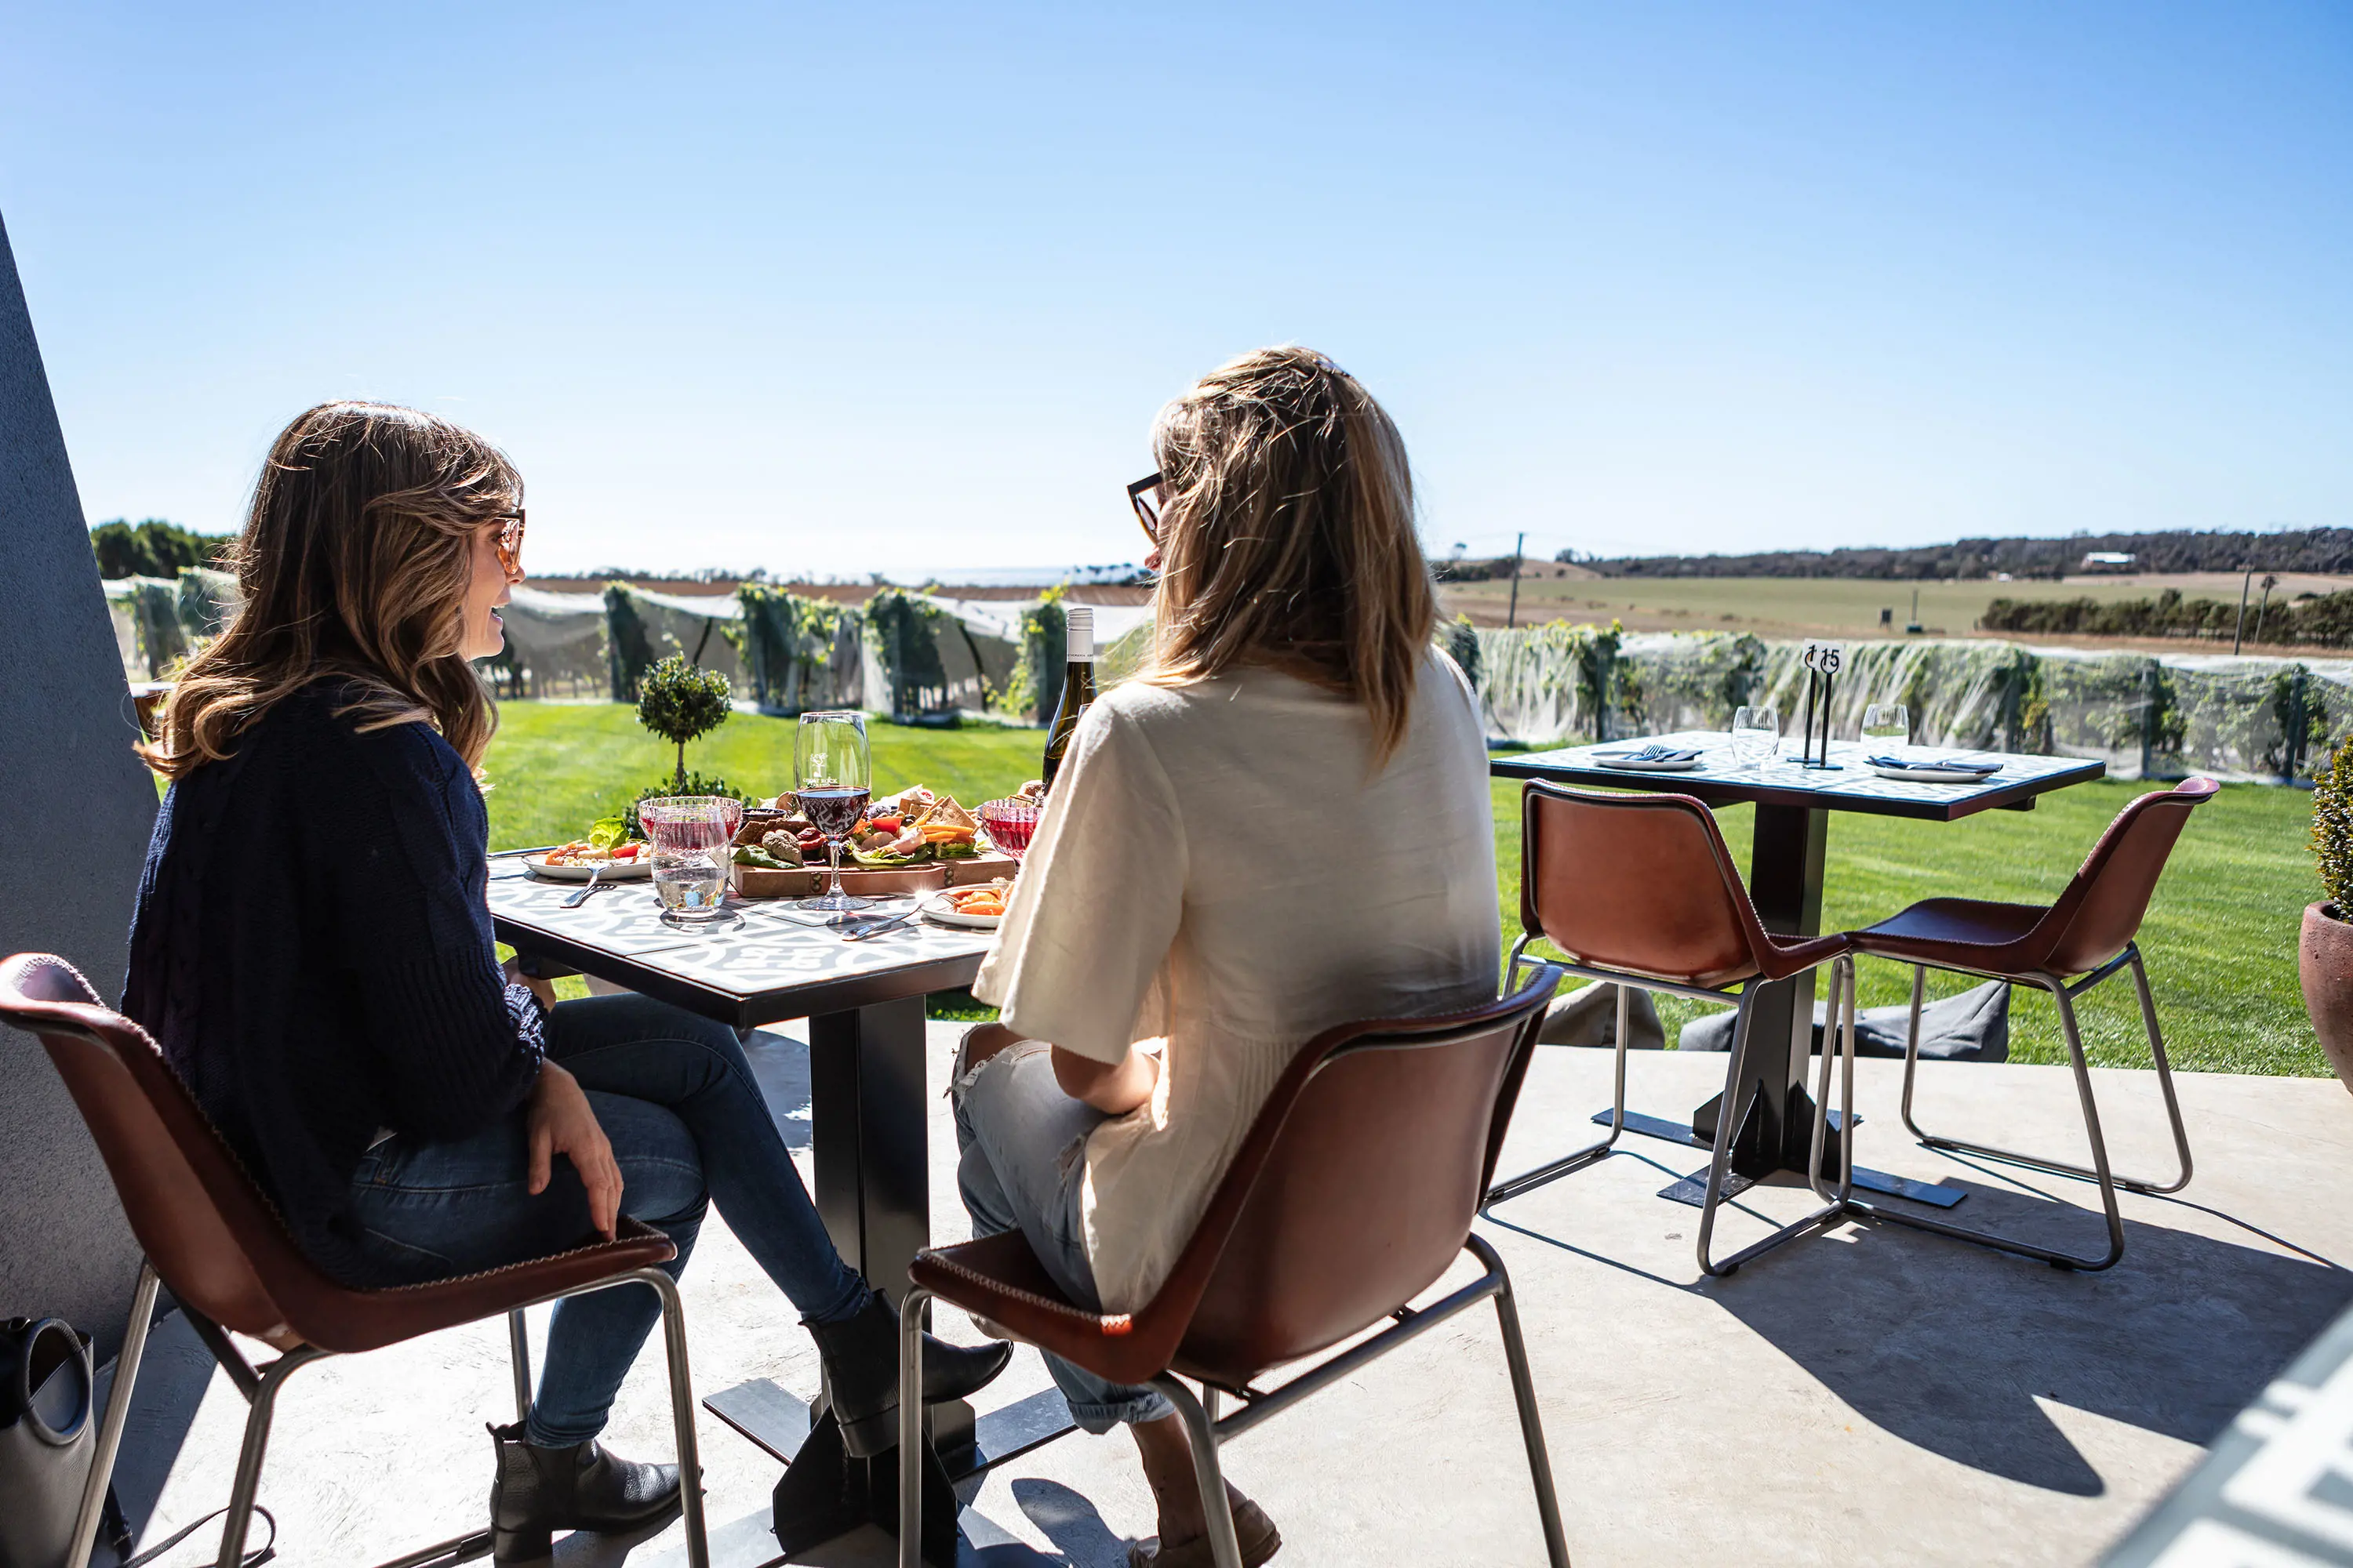
[[[1567,973],[1619,987],[1609,1135],[1497,1182],[1485,1204],[1520,1197],[1617,1152],[1619,1133],[1626,1131],[1626,994],[1645,990],[1739,1009],[1725,1063],[1725,1095],[1718,1100],[1715,1152],[1699,1208],[1699,1267],[1708,1274],[1729,1274],[1758,1253],[1838,1218],[1854,1185],[1854,1159],[1845,1157],[1838,1197],[1831,1197],[1819,1182],[1831,1114],[1833,1048],[1826,1046],[1814,1093],[1812,1154],[1814,1190],[1826,1204],[1722,1262],[1708,1255],[1715,1211],[1725,1201],[1732,1168],[1732,1143],[1741,1126],[1748,1018],[1758,983],[1786,980],[1831,964],[1828,1016],[1845,1018],[1845,1030],[1833,1034],[1845,1039],[1842,1114],[1845,1126],[1852,1126],[1854,959],[1847,957],[1845,936],[1779,938],[1765,929],[1755,905],[1748,903],[1748,889],[1732,870],[1725,835],[1718,832],[1706,804],[1689,795],[1600,795],[1529,780],[1520,795],[1520,940],[1511,947],[1513,969],[1527,961],[1527,945],[1537,938],[1569,954],[1562,964]],[[1840,1138],[1842,1150],[1849,1143]]]

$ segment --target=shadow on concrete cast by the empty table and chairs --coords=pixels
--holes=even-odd
[[[1969,1194],[1941,1215],[1953,1222],[2068,1251],[2104,1241],[2097,1211],[2047,1192],[1946,1185]],[[1729,1279],[1598,1260],[1715,1300],[1857,1415],[1920,1448],[2078,1497],[2106,1483],[2045,1403],[2205,1446],[2353,1302],[2353,1274],[2311,1253],[2137,1220],[2125,1220],[2122,1262],[2099,1274],[1871,1220],[1800,1237]]]

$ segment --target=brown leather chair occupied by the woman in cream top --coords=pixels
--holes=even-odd
[[[1219,1568],[1240,1568],[1219,1439],[1494,1298],[1544,1549],[1553,1568],[1567,1568],[1511,1276],[1494,1248],[1471,1234],[1544,1004],[1558,985],[1560,971],[1544,966],[1475,1013],[1348,1023],[1301,1046],[1167,1284],[1136,1312],[1073,1305],[1021,1232],[915,1253],[913,1291],[899,1314],[901,1392],[922,1387],[920,1307],[934,1295],[1113,1382],[1160,1389],[1193,1439],[1212,1556]],[[1485,1274],[1428,1307],[1409,1307],[1464,1251]],[[1381,1319],[1395,1324],[1282,1387],[1252,1387],[1264,1371],[1329,1349]],[[1198,1380],[1202,1396],[1176,1373]],[[1242,1399],[1226,1420],[1217,1420],[1219,1392]],[[918,1396],[899,1415],[901,1568],[913,1568],[922,1544],[920,1420]]]

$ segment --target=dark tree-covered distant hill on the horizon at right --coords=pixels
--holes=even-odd
[[[2299,534],[2073,534],[2068,538],[1958,538],[1901,550],[1765,550],[1758,555],[1631,555],[1560,559],[1600,576],[1835,576],[1835,578],[2014,578],[2080,576],[2085,555],[2129,555],[2132,571],[2353,571],[2353,529]]]

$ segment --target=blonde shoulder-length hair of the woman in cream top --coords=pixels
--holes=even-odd
[[[1151,679],[1287,670],[1362,703],[1386,764],[1438,621],[1398,425],[1325,355],[1261,348],[1167,404],[1153,447]]]

